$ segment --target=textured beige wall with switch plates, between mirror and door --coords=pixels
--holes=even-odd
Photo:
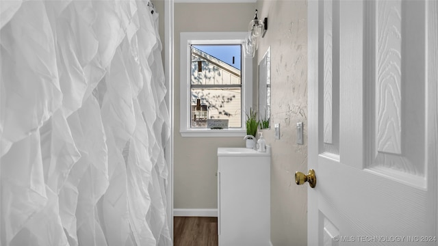
[[[263,136],[272,146],[271,241],[274,246],[307,245],[307,184],[295,184],[296,171],[307,173],[307,1],[257,1],[259,18],[268,17],[257,64],[271,47],[272,126]],[[304,145],[296,144],[296,123],[304,123]]]

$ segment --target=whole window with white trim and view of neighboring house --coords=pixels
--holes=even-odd
[[[246,33],[181,33],[180,132],[183,137],[244,136],[252,105],[252,59],[243,55]],[[229,128],[207,128],[207,120]]]

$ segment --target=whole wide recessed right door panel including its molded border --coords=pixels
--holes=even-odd
[[[425,10],[424,2],[412,1],[380,1],[370,8],[376,47],[371,46],[375,69],[368,80],[367,165],[417,187],[426,187]]]

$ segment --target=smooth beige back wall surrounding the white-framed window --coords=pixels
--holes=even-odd
[[[218,147],[244,147],[242,137],[181,137],[179,33],[246,31],[255,3],[175,3],[174,208],[218,208]]]

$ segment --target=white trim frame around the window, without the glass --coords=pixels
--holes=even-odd
[[[180,33],[180,112],[179,132],[182,137],[243,137],[246,135],[245,112],[253,105],[253,59],[242,52],[242,128],[211,130],[190,128],[189,58],[192,44],[243,44],[247,32],[182,32]]]

